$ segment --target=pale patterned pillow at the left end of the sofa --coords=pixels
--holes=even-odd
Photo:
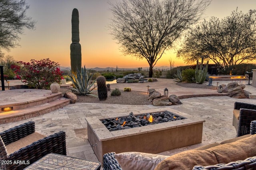
[[[154,170],[157,164],[168,157],[142,152],[122,152],[115,154],[115,158],[122,170]]]

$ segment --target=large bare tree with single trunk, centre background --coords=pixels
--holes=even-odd
[[[164,51],[202,16],[210,0],[122,0],[110,4],[111,34],[125,55],[146,59],[149,77]]]

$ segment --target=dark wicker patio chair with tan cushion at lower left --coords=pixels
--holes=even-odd
[[[64,131],[46,137],[36,133],[35,123],[29,121],[0,133],[2,170],[21,170],[52,152],[66,155]]]

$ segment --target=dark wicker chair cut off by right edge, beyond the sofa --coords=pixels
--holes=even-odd
[[[232,125],[236,128],[236,137],[250,134],[250,123],[256,120],[256,105],[235,102],[233,113]]]

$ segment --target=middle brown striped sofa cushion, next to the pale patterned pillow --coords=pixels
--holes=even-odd
[[[204,150],[187,150],[160,162],[155,170],[191,170],[196,165],[218,164],[214,154]]]

